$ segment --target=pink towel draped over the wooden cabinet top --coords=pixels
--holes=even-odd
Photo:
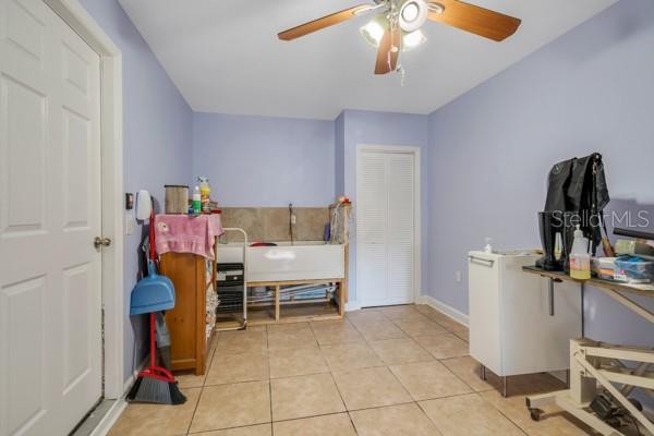
[[[168,252],[193,253],[214,261],[215,238],[223,232],[220,214],[155,217],[155,241],[159,255]]]

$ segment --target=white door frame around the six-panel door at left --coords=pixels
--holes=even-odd
[[[122,53],[77,0],[44,0],[100,57],[104,397],[119,399],[124,383],[123,295],[123,106]],[[90,243],[90,241],[89,241]]]

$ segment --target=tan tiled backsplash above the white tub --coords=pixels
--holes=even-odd
[[[325,225],[329,222],[328,207],[295,207],[293,225],[295,241],[322,241]],[[288,207],[223,207],[222,226],[240,227],[247,232],[250,242],[290,241]],[[229,242],[241,242],[243,237],[228,232]]]

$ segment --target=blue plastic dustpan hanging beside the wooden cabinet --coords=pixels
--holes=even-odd
[[[159,276],[153,261],[147,261],[147,277],[132,289],[130,315],[168,311],[174,307],[174,286],[166,276]]]

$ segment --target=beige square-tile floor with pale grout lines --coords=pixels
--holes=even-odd
[[[424,305],[367,308],[342,320],[221,332],[206,376],[179,374],[187,402],[130,404],[111,436],[592,435],[554,410],[533,422],[524,395],[548,375],[479,377],[468,329]]]

